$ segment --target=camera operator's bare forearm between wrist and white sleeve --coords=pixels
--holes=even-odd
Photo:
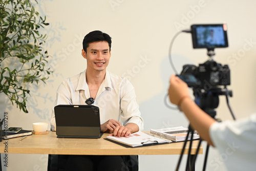
[[[216,120],[202,111],[190,98],[185,98],[180,108],[188,118],[193,129],[199,132],[200,137],[207,141],[208,144],[213,145],[209,135],[209,129],[211,124],[216,122]]]

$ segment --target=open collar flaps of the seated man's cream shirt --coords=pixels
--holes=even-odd
[[[110,72],[107,70],[105,79],[102,82],[102,86],[104,88],[110,88],[113,89],[113,86],[111,84],[111,77],[110,77]],[[80,76],[78,78],[78,84],[76,90],[87,90],[88,89],[88,84],[86,82],[86,70],[80,73]]]

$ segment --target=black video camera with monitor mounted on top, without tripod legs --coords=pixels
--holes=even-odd
[[[230,85],[230,70],[228,65],[222,66],[214,61],[215,48],[228,47],[227,26],[225,24],[214,25],[192,25],[189,31],[192,35],[193,48],[206,48],[209,59],[195,65],[184,65],[179,76],[185,81],[188,87],[193,88],[195,101],[206,113],[214,117],[212,113],[218,107],[218,95],[232,96],[231,91],[227,91],[219,86]]]

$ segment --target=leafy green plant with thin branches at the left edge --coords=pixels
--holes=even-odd
[[[0,0],[0,93],[25,113],[28,88],[52,73],[42,47],[47,35],[39,33],[49,25],[45,20],[29,0]]]

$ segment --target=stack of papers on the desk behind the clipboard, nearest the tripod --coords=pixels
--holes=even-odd
[[[185,141],[186,136],[187,136],[188,129],[186,129],[183,126],[178,126],[178,127],[168,127],[165,129],[158,129],[158,130],[152,130],[150,131],[151,134],[169,139],[172,141]],[[197,133],[197,131],[194,132],[193,139],[199,139],[200,136]],[[188,136],[188,140],[191,139],[191,133]]]

